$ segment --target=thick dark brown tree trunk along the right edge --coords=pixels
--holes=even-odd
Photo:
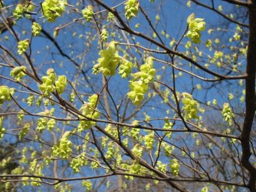
[[[247,78],[245,79],[245,120],[243,122],[243,130],[241,134],[242,144],[242,165],[250,173],[248,188],[250,191],[256,191],[256,169],[250,163],[250,133],[252,131],[252,123],[255,115],[255,72],[256,72],[256,1],[250,5],[249,11],[249,41],[247,52]]]

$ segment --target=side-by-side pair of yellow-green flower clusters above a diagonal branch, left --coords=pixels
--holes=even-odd
[[[68,81],[66,76],[58,76],[56,81],[56,74],[53,68],[48,69],[46,74],[47,76],[42,77],[43,83],[39,85],[39,89],[43,92],[44,96],[49,96],[55,89],[58,94],[63,93]]]

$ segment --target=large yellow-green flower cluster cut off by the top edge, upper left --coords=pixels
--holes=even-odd
[[[42,3],[44,17],[53,22],[65,11],[66,0],[45,0]]]

